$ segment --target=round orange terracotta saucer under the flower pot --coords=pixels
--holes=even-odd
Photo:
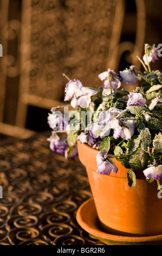
[[[105,233],[100,225],[93,198],[80,206],[76,212],[76,220],[87,233],[106,245],[162,245],[162,235],[134,237]]]

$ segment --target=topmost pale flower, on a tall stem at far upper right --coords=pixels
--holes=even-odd
[[[157,56],[158,51],[159,48],[154,47],[154,45],[150,46],[148,44],[145,44],[145,54],[143,56],[143,60],[146,65],[148,65],[148,63],[150,62],[155,62],[155,60],[159,60]]]

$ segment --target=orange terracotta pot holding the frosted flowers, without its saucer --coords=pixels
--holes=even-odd
[[[158,198],[157,182],[149,184],[142,173],[136,172],[137,184],[129,187],[127,169],[115,159],[115,175],[98,174],[98,150],[77,142],[81,163],[86,167],[96,211],[102,227],[108,233],[127,236],[162,234],[162,198]]]

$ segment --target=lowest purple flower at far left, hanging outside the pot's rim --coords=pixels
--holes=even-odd
[[[66,139],[60,138],[56,133],[53,133],[50,138],[47,139],[50,142],[50,149],[54,152],[64,154],[68,145]]]

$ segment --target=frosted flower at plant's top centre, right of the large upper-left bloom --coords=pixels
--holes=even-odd
[[[99,74],[99,78],[104,81],[105,89],[112,88],[115,90],[121,86],[119,75],[111,69]]]

